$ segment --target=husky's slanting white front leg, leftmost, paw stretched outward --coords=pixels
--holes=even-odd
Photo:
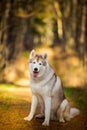
[[[30,114],[24,118],[24,120],[32,120],[34,114],[35,114],[35,111],[36,111],[36,107],[37,107],[37,97],[35,95],[32,95],[32,103],[31,103],[31,110],[30,110]]]

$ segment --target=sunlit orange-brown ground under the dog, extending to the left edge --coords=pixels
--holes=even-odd
[[[87,115],[81,114],[71,121],[50,121],[49,127],[42,126],[43,119],[24,121],[31,103],[29,88],[14,88],[0,92],[0,130],[87,130]],[[38,108],[39,109],[39,108]]]

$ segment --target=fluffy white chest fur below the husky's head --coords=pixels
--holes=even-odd
[[[31,90],[34,94],[39,94],[41,96],[44,95],[50,96],[52,94],[54,82],[55,82],[54,71],[51,71],[50,73],[46,73],[46,75],[43,76],[41,80],[31,79],[30,81]]]

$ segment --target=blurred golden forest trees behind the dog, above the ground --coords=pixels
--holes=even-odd
[[[87,0],[0,0],[0,82],[27,84],[33,48],[65,85],[86,87]]]

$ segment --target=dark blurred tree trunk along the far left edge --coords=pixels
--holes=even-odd
[[[5,12],[3,17],[1,17],[1,27],[0,27],[0,71],[3,71],[8,55],[8,47],[6,46],[7,43],[7,35],[8,35],[8,17],[10,11],[10,2],[4,3]],[[2,8],[3,9],[3,8]]]

